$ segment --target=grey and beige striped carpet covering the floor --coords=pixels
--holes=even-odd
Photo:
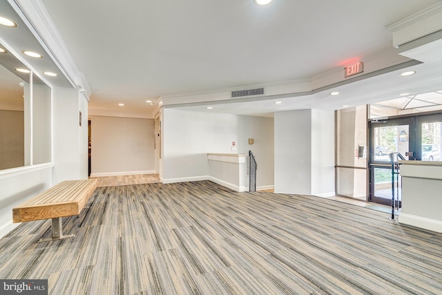
[[[27,222],[0,240],[0,278],[49,294],[442,294],[442,235],[387,213],[209,181],[97,188],[75,238]]]

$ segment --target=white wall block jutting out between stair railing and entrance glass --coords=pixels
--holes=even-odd
[[[275,192],[334,196],[334,112],[275,113]]]

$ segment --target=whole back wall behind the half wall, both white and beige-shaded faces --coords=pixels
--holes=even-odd
[[[272,118],[164,108],[162,140],[163,182],[207,179],[207,153],[251,150],[258,162],[257,187],[273,187]],[[232,142],[236,151],[231,150]]]

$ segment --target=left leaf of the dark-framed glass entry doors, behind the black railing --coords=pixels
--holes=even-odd
[[[392,186],[401,202],[401,177],[392,180],[391,153],[400,153],[406,160],[414,160],[415,117],[372,121],[369,124],[369,201],[392,204]],[[397,155],[396,155],[397,157]]]

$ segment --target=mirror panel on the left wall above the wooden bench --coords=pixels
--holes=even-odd
[[[0,170],[51,161],[51,88],[17,68],[27,69],[0,53]]]

